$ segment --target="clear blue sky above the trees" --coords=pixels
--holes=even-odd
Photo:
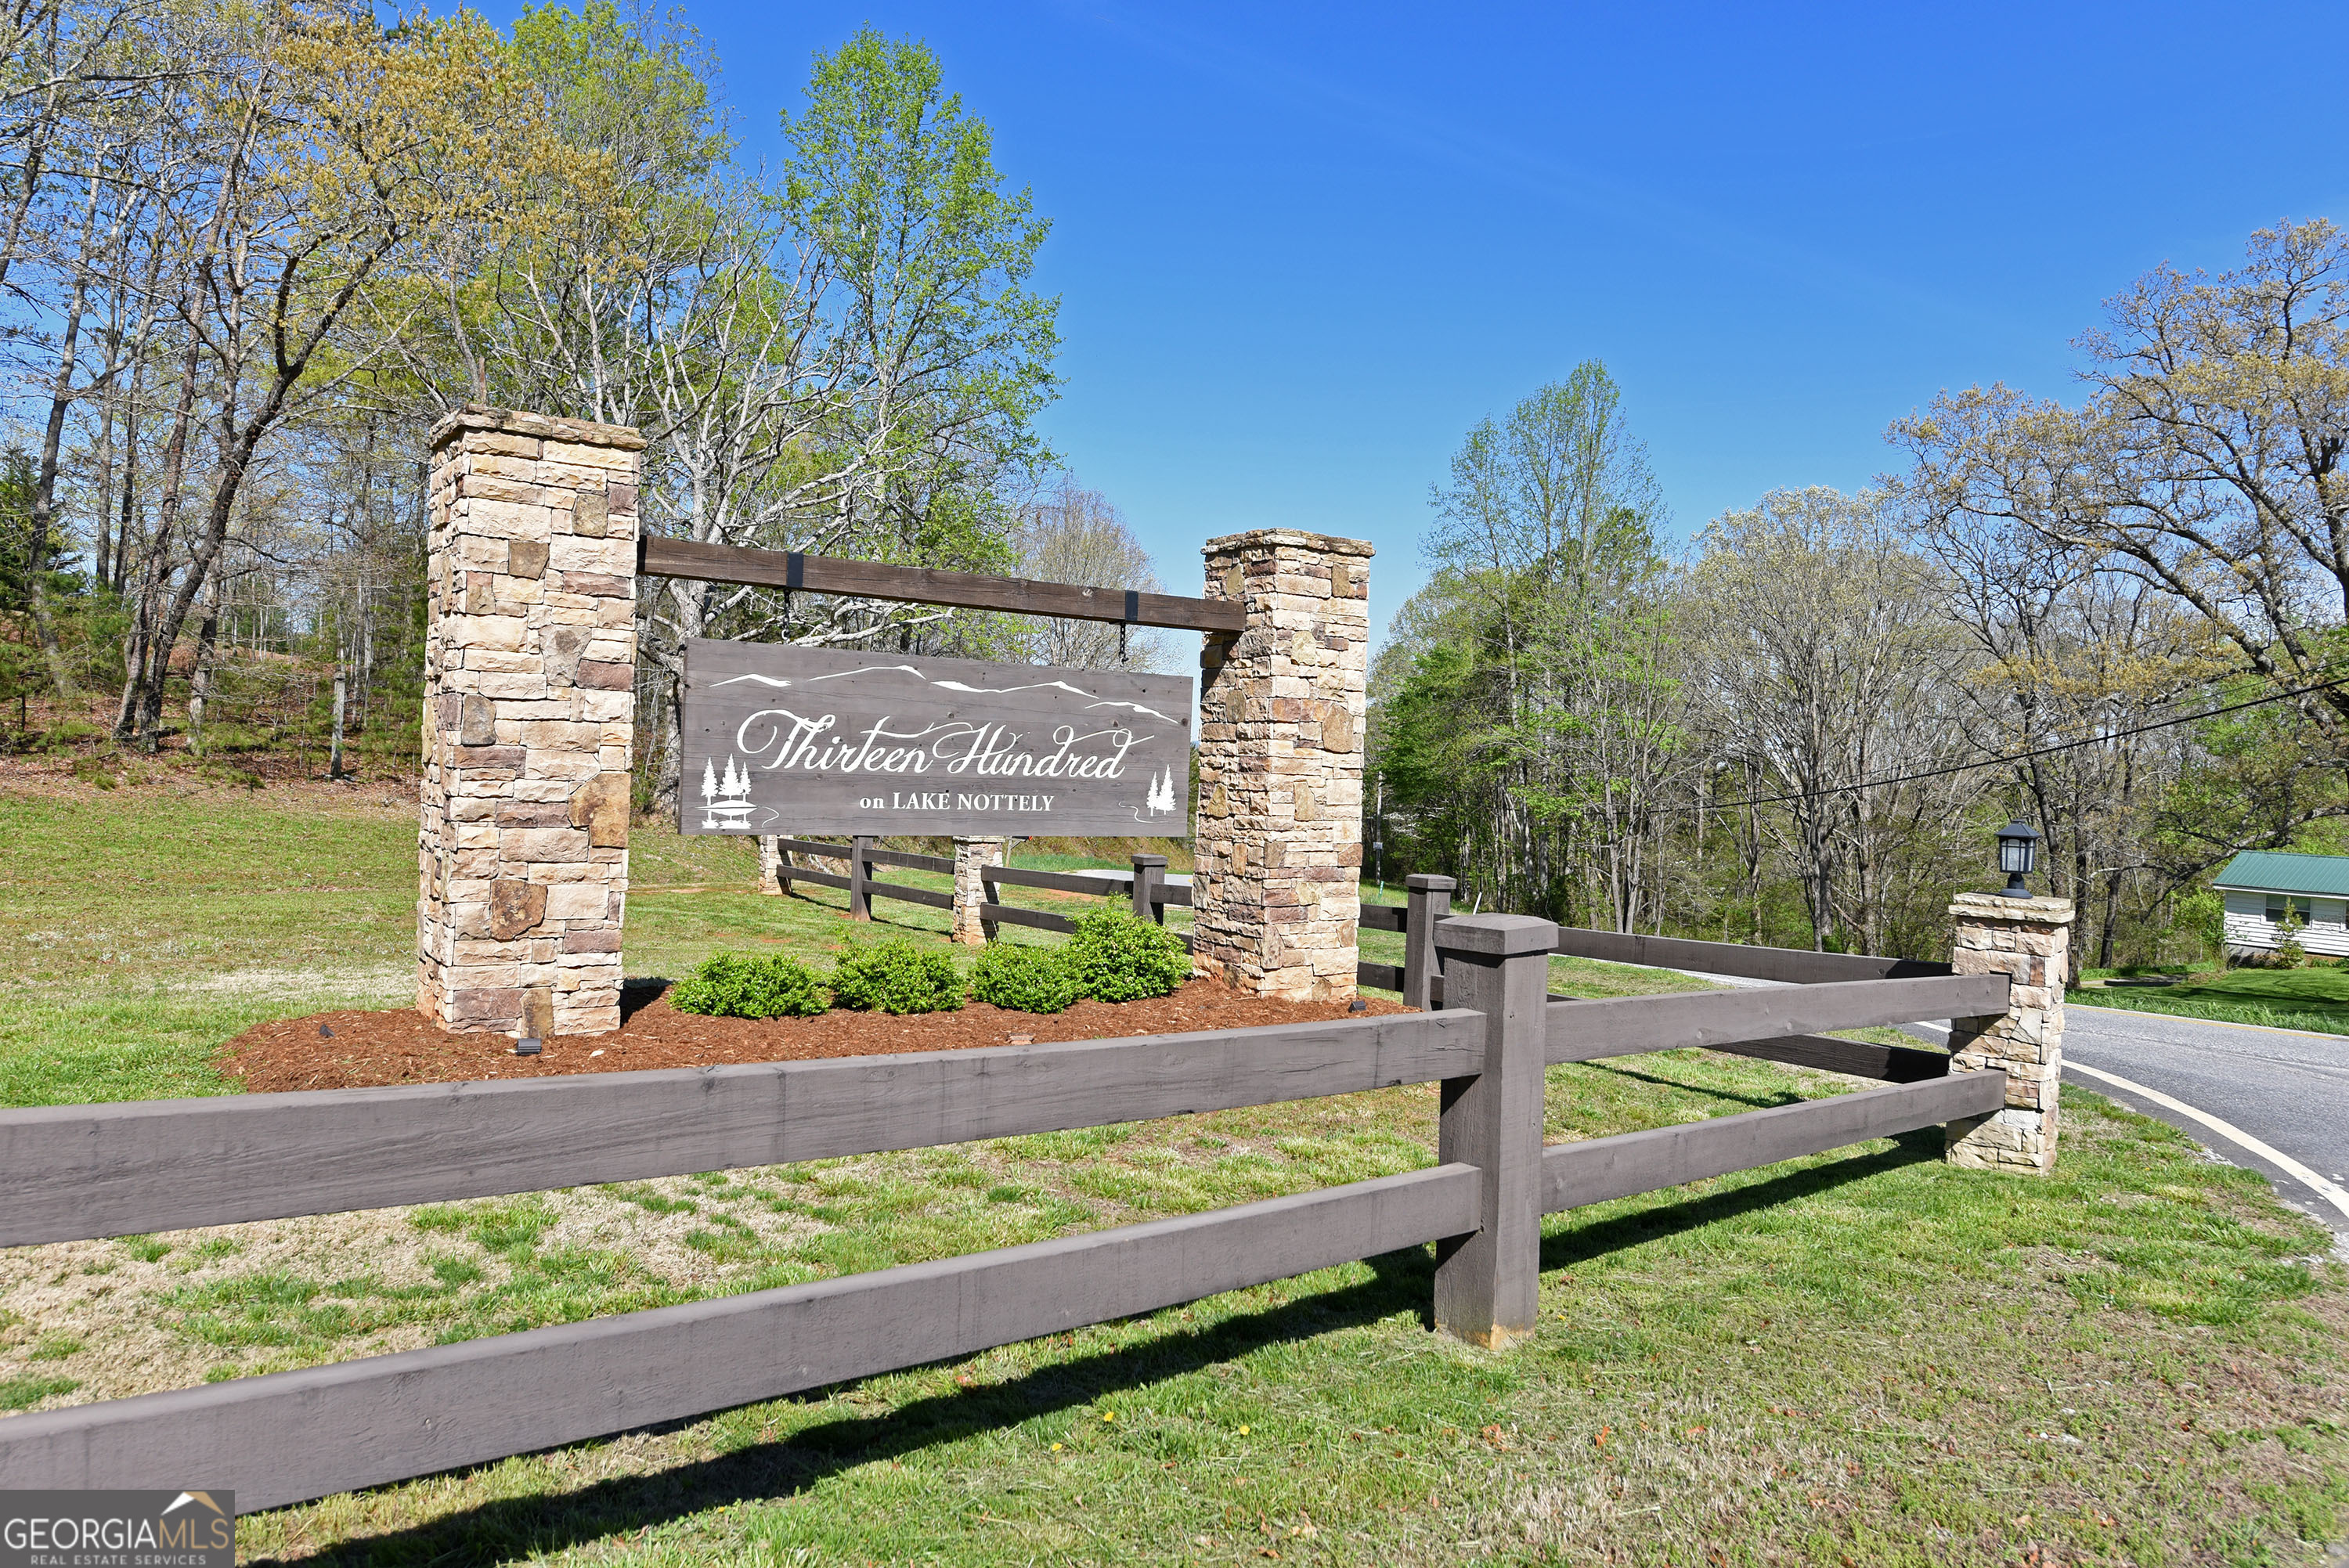
[[[855,26],[926,38],[1055,221],[1045,430],[1174,592],[1301,526],[1423,577],[1428,484],[1604,359],[1687,535],[1860,486],[1940,387],[2069,394],[2098,303],[2344,204],[2349,7],[693,0],[747,153]]]

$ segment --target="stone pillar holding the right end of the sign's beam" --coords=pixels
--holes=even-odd
[[[1193,958],[1236,991],[1348,1000],[1372,549],[1261,528],[1200,554],[1207,599],[1243,603],[1247,627],[1200,650]]]

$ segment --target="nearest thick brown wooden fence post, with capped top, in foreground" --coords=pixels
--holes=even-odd
[[[1447,1009],[1485,1014],[1485,1070],[1447,1077],[1435,1157],[1485,1171],[1482,1230],[1435,1244],[1435,1329],[1501,1350],[1541,1314],[1541,1070],[1557,925],[1459,915],[1435,927]]]

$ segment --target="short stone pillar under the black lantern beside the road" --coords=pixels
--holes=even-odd
[[[2006,1073],[2006,1108],[1950,1122],[1950,1164],[1978,1171],[2055,1169],[2055,1094],[2062,1087],[2062,988],[2072,953],[2069,899],[1961,892],[1950,965],[2013,979],[2006,1012],[1950,1019],[1952,1073]]]

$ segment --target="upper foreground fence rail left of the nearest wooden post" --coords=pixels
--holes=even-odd
[[[1475,1014],[0,1110],[0,1246],[1010,1138],[1475,1073]]]

